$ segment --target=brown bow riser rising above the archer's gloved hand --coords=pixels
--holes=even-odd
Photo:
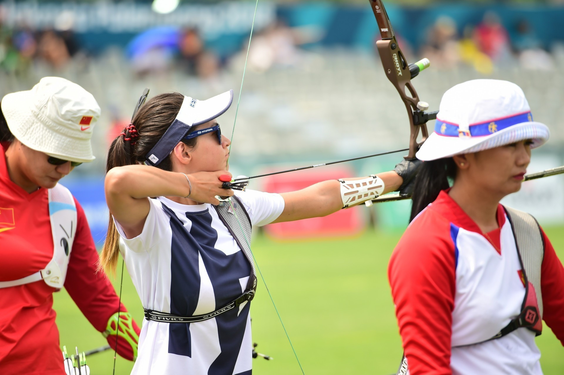
[[[419,101],[417,91],[411,83],[413,74],[410,69],[411,67],[407,63],[402,50],[399,48],[398,41],[395,38],[394,29],[391,27],[390,19],[387,16],[384,4],[381,0],[368,1],[370,2],[372,11],[374,12],[374,16],[376,17],[376,22],[378,23],[378,29],[380,29],[380,34],[382,36],[382,40],[376,42],[376,47],[378,48],[378,52],[380,53],[380,59],[382,60],[382,66],[384,66],[384,72],[386,73],[386,77],[394,85],[396,90],[398,90],[399,96],[402,98],[403,103],[406,105],[406,110],[409,117],[410,133],[409,153],[405,158],[413,159],[415,158],[415,153],[417,152],[419,147],[429,136],[426,122],[431,118],[429,118],[430,114],[425,117],[424,113],[424,110],[428,108],[428,105],[424,102]],[[415,73],[415,75],[417,75],[417,73]],[[413,77],[415,77],[415,75],[413,75]],[[434,115],[436,117],[436,113],[434,113]],[[420,130],[422,139],[420,142],[418,142],[417,136],[419,135]]]

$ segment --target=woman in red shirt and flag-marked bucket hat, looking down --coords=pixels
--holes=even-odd
[[[52,309],[52,294],[63,286],[108,343],[133,360],[139,328],[108,279],[96,274],[85,213],[58,184],[94,160],[98,103],[77,84],[46,77],[32,90],[4,96],[1,109],[0,372],[64,373]],[[113,329],[118,310],[127,340],[117,340]]]

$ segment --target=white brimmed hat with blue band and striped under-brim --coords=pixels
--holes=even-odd
[[[548,140],[545,124],[532,120],[521,87],[496,79],[475,79],[447,90],[440,101],[435,131],[416,157],[435,160],[531,139],[531,149]]]

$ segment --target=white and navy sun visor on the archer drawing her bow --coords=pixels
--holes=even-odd
[[[233,90],[226,91],[208,100],[197,100],[190,96],[184,96],[177,117],[146,155],[147,164],[158,166],[162,160],[170,155],[174,147],[190,132],[192,127],[219,117],[229,109],[232,102]]]

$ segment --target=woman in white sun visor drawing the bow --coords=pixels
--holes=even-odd
[[[112,216],[100,260],[114,270],[121,252],[143,303],[133,374],[250,374],[251,225],[329,215],[403,189],[415,176],[404,160],[398,173],[284,194],[223,189],[231,141],[216,118],[232,99],[232,91],[208,100],[157,95],[110,147]],[[232,199],[219,204],[215,196]]]

